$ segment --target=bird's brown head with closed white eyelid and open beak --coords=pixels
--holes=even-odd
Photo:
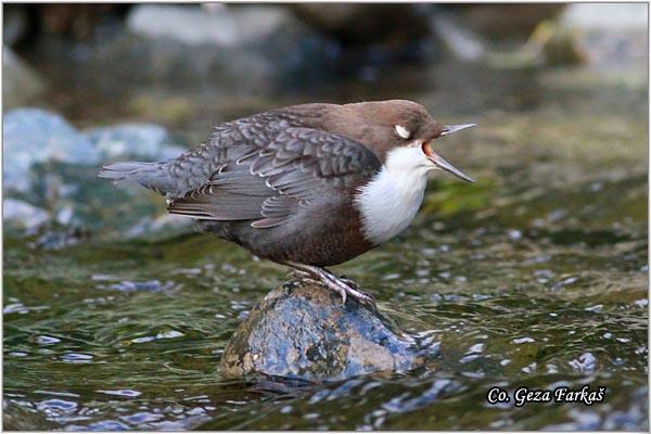
[[[444,125],[432,118],[425,107],[406,100],[363,102],[343,105],[359,122],[350,122],[349,135],[373,150],[388,169],[445,170],[468,182],[472,178],[433,150],[436,139],[475,124]],[[347,131],[346,131],[347,132]]]

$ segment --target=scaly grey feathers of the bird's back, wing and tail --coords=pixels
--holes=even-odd
[[[101,178],[136,181],[170,199],[169,213],[282,225],[324,195],[344,194],[380,169],[360,142],[267,112],[215,128],[196,150],[161,163],[105,165]]]

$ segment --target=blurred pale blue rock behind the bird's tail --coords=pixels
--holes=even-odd
[[[184,148],[162,127],[124,124],[80,132],[55,113],[16,108],[3,118],[4,193],[13,226],[33,228],[49,221],[64,228],[111,227],[141,234],[189,230],[189,224],[153,216],[164,206],[138,186],[115,189],[97,178],[108,161],[173,158]],[[138,191],[138,194],[133,194]],[[132,208],[126,213],[124,208]],[[5,215],[7,218],[7,215]]]

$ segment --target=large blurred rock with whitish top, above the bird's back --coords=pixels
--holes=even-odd
[[[279,5],[143,4],[132,8],[127,23],[130,31],[102,43],[88,59],[103,86],[155,80],[179,92],[216,88],[225,100],[285,86],[296,91],[323,69],[330,73],[336,52],[330,39]],[[105,76],[106,64],[119,67]]]

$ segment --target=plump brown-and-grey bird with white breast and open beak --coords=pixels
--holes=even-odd
[[[433,148],[475,125],[442,124],[408,100],[307,103],[220,124],[176,158],[105,164],[99,177],[154,190],[168,213],[320,282],[343,304],[374,305],[326,267],[405,230],[430,171],[474,182]]]

